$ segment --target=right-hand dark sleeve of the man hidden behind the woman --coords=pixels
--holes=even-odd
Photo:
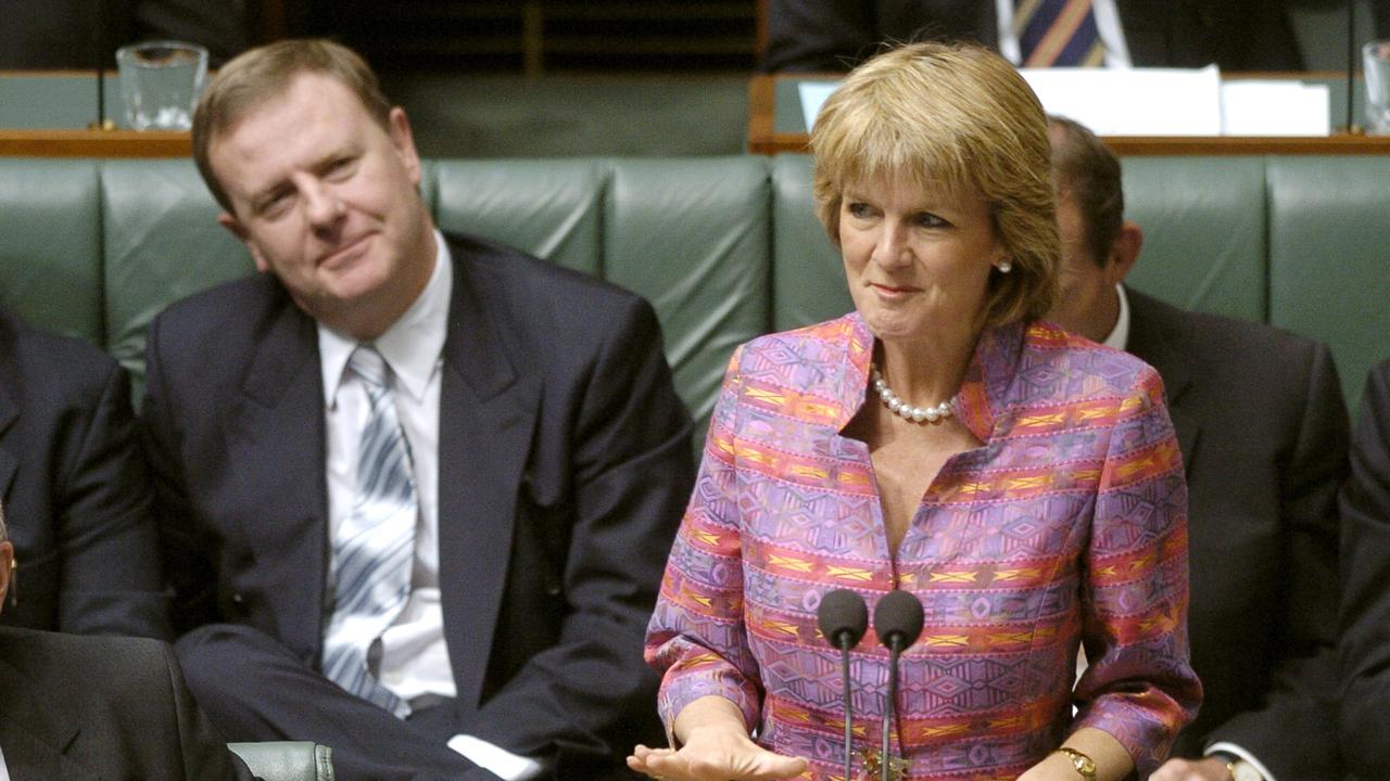
[[[1325,345],[1312,345],[1297,439],[1282,454],[1280,514],[1286,568],[1280,652],[1264,706],[1212,730],[1208,745],[1233,742],[1279,778],[1337,778],[1336,589],[1337,491],[1346,477],[1346,404]]]

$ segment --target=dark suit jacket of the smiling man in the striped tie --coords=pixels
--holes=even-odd
[[[642,635],[694,482],[651,306],[478,239],[455,258],[439,581],[457,732],[567,763],[659,739]],[[150,329],[146,424],[182,628],[317,664],[328,578],[314,321],[268,275]]]

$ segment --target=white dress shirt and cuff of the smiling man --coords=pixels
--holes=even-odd
[[[377,680],[406,702],[427,695],[457,695],[439,603],[439,386],[443,342],[449,332],[453,265],[449,246],[438,231],[435,243],[438,252],[425,289],[374,342],[395,375],[391,395],[396,417],[410,443],[420,520],[416,527],[410,596],[381,638],[363,638],[363,645],[373,643],[368,664]],[[339,532],[352,511],[357,492],[357,452],[368,416],[363,382],[346,372],[348,359],[354,349],[356,339],[318,324],[324,431],[328,439],[329,538]],[[470,735],[456,735],[449,741],[449,748],[506,781],[525,781],[543,770],[534,759],[513,755]]]

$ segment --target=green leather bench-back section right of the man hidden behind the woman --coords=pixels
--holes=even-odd
[[[1127,283],[1183,309],[1264,321],[1264,158],[1130,157],[1122,171],[1125,214],[1144,229]]]

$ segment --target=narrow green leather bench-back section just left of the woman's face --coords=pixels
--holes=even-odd
[[[773,158],[773,324],[777,331],[840,317],[853,309],[840,249],[816,218],[812,157]]]

